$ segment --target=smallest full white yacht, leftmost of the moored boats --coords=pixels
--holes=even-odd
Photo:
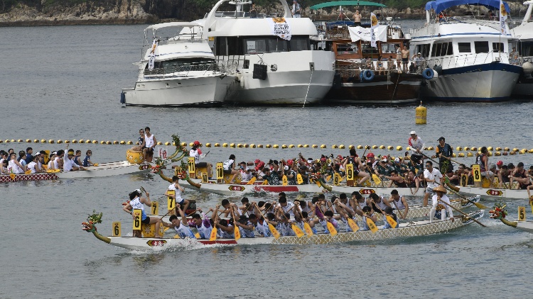
[[[235,76],[220,72],[198,23],[171,22],[144,30],[139,75],[122,89],[126,106],[222,106]],[[146,50],[145,47],[147,48]],[[238,82],[237,82],[238,84]]]

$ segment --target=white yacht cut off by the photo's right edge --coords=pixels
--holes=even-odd
[[[512,28],[511,33],[517,39],[517,51],[522,57],[522,67],[524,72],[520,74],[515,89],[512,90],[512,96],[519,98],[531,98],[533,96],[533,1],[525,1],[527,11],[519,26]]]

